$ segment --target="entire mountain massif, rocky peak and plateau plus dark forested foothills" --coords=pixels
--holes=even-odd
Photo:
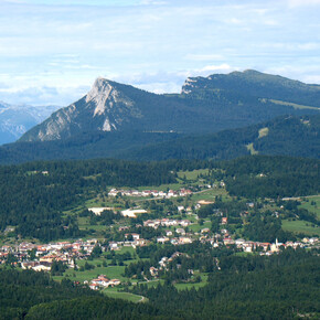
[[[0,163],[122,158],[319,158],[320,86],[256,71],[188,78],[156,95],[98,78],[78,102],[0,148]]]

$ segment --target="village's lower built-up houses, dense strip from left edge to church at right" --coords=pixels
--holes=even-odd
[[[119,242],[108,242],[104,239],[77,239],[74,242],[56,242],[49,244],[34,244],[34,243],[20,243],[19,245],[3,245],[0,247],[0,263],[10,263],[12,266],[21,267],[22,269],[33,269],[35,271],[51,271],[54,263],[61,263],[66,268],[77,269],[77,262],[89,260],[90,255],[95,248],[99,248],[102,252],[119,252],[124,247],[137,247],[148,246],[152,243],[157,244],[172,244],[174,246],[191,244],[195,241],[202,243],[209,243],[212,247],[236,247],[244,253],[258,253],[259,255],[273,255],[279,253],[286,247],[292,248],[312,248],[319,247],[318,237],[306,237],[300,242],[286,242],[279,243],[275,239],[274,243],[260,243],[246,241],[243,238],[232,238],[226,225],[227,220],[223,220],[224,227],[221,233],[210,236],[209,228],[202,228],[200,232],[185,232],[185,227],[190,226],[189,220],[148,220],[143,223],[145,227],[158,228],[159,226],[172,227],[175,230],[164,231],[161,236],[156,237],[153,241],[143,239],[140,234],[127,233],[126,239]],[[184,227],[184,228],[183,228]],[[127,226],[122,226],[120,231],[125,231]],[[158,270],[166,268],[167,264],[172,262],[180,253],[177,252],[171,257],[162,257],[158,265],[150,267],[150,274],[157,278]],[[106,267],[106,273],[108,267]],[[115,287],[121,285],[121,281],[117,278],[108,279],[106,275],[98,275],[93,279],[86,279],[84,285],[89,286],[93,290],[99,290],[108,287]]]

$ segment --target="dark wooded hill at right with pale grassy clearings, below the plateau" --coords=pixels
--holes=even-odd
[[[246,128],[191,136],[126,152],[136,160],[232,159],[245,154],[319,158],[320,116],[279,117]]]

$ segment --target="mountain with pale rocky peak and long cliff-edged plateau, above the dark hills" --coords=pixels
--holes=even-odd
[[[305,98],[306,97],[306,98]],[[60,140],[88,131],[207,134],[280,115],[319,113],[320,86],[255,71],[188,78],[181,94],[156,95],[97,78],[78,102],[54,113],[20,141]]]

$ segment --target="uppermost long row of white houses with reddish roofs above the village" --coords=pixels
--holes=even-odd
[[[190,189],[180,189],[179,191],[169,190],[166,191],[158,191],[158,190],[118,190],[111,189],[108,193],[108,196],[116,196],[116,195],[127,195],[127,196],[157,196],[157,198],[175,198],[175,196],[186,196],[191,195],[192,191]]]

